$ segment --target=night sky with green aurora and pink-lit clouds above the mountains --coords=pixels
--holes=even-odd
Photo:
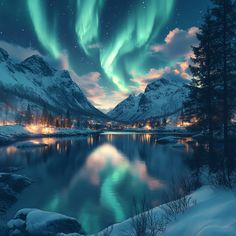
[[[71,76],[108,110],[160,77],[191,76],[195,34],[209,0],[0,0],[0,47]]]

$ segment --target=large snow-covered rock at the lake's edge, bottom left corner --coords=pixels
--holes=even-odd
[[[82,232],[80,223],[74,218],[29,208],[19,210],[7,225],[12,236],[46,236]]]

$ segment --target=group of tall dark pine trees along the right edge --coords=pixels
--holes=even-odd
[[[184,116],[186,121],[198,119],[210,146],[215,134],[222,134],[227,156],[236,112],[236,1],[212,3],[197,34],[200,43],[193,47],[193,80]]]

